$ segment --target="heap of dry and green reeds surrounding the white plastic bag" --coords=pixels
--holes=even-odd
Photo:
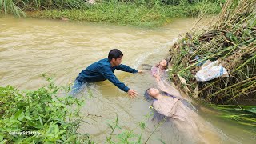
[[[256,1],[228,0],[207,30],[192,30],[170,49],[173,69],[186,78],[199,98],[218,104],[255,98],[256,95]],[[199,59],[196,59],[198,57]],[[197,82],[194,75],[202,62],[219,60],[228,78]]]

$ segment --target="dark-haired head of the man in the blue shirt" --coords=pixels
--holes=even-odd
[[[118,66],[122,62],[122,52],[118,49],[112,49],[109,52],[108,59],[111,63],[111,66]]]

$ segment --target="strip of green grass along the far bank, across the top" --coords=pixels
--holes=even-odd
[[[0,10],[18,16],[152,27],[168,24],[171,18],[217,14],[221,7],[220,1],[209,0],[110,0],[96,4],[82,0],[1,0]]]

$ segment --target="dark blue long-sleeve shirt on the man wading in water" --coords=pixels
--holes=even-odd
[[[118,65],[111,67],[111,64],[108,58],[104,58],[99,60],[98,62],[94,62],[90,66],[86,68],[86,70],[82,70],[78,75],[78,81],[81,82],[99,82],[105,81],[108,79],[115,86],[118,86],[119,89],[127,92],[129,88],[122,82],[118,80],[118,78],[114,75],[114,70],[122,70],[129,73],[138,73],[138,70],[132,69],[126,65]]]

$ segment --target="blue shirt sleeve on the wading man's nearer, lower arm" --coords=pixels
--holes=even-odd
[[[119,89],[128,92],[129,88],[124,83],[118,80],[118,78],[114,75],[109,66],[101,66],[98,72],[102,74],[103,77],[112,82],[114,86],[118,86]]]

